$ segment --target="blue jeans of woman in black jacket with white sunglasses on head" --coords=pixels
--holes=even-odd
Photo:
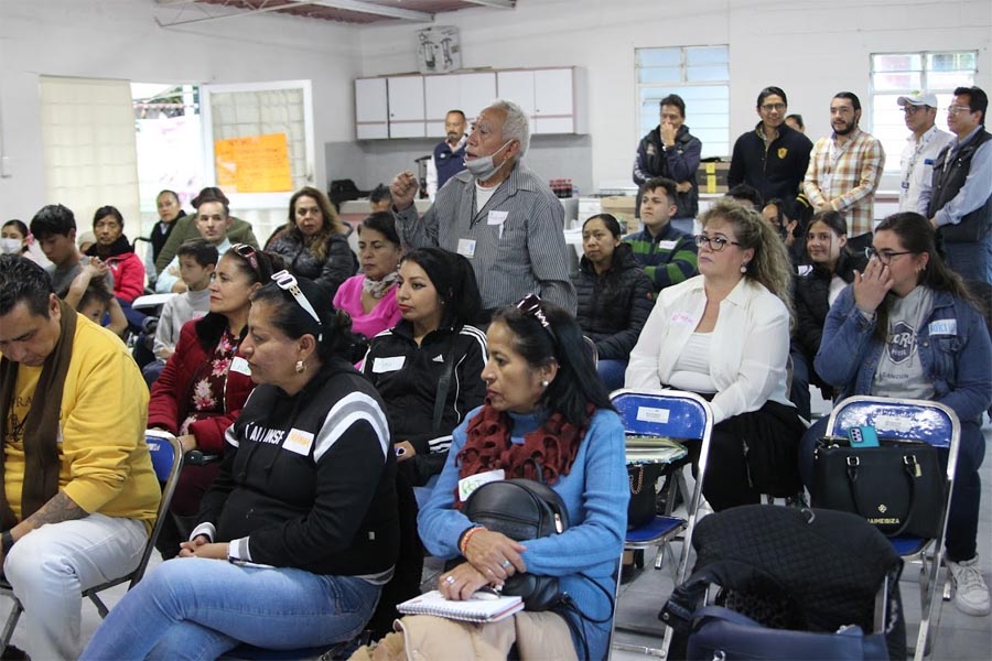
[[[357,636],[380,586],[354,576],[176,557],[128,592],[80,659],[216,659],[241,642],[331,646]]]

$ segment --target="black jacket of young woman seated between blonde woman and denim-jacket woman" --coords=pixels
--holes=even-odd
[[[837,274],[850,284],[854,281],[854,269],[863,271],[866,261],[863,254],[858,256],[848,250],[841,250],[840,259],[837,262]],[[792,290],[796,303],[796,332],[792,345],[806,356],[810,367],[812,367],[817,351],[820,350],[823,324],[827,322],[827,313],[830,312],[831,280],[833,280],[833,273],[815,266],[807,274],[796,278],[796,286]],[[826,384],[815,373],[810,373],[810,381],[818,386]]]

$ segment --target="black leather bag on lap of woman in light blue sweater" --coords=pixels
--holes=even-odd
[[[486,483],[472,492],[462,513],[473,523],[518,542],[561,534],[569,527],[569,512],[561,496],[530,479]],[[549,610],[561,602],[557,576],[530,572],[507,578],[503,594],[522,597],[527,610]]]

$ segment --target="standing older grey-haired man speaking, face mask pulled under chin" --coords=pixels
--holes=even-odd
[[[495,101],[472,126],[466,170],[438,191],[423,218],[413,206],[417,178],[397,175],[390,187],[397,229],[408,247],[440,246],[468,258],[489,313],[536,293],[575,314],[564,212],[548,184],[521,163],[529,143],[524,110]]]

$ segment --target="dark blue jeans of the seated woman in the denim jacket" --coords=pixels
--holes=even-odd
[[[812,488],[813,451],[817,438],[827,431],[828,420],[821,418],[807,430],[799,442],[799,474],[807,488]],[[947,453],[938,453],[941,468],[947,466]],[[945,544],[948,560],[971,560],[978,550],[978,519],[982,499],[979,468],[985,458],[985,437],[974,421],[961,421],[961,445],[955,468],[955,492],[947,513]]]

